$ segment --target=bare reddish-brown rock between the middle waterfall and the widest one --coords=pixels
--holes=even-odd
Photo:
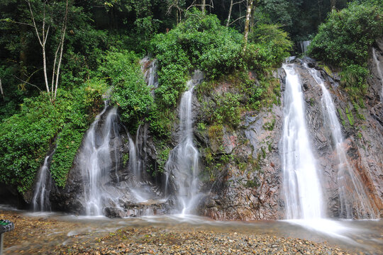
[[[283,70],[274,75],[281,78],[283,90]],[[256,81],[254,86],[257,86]],[[221,84],[213,93],[222,91],[238,93],[231,84]],[[282,115],[282,106],[274,104],[261,111],[242,113],[235,130],[223,125],[217,137],[195,132],[203,152],[204,173],[210,175],[205,181],[207,196],[201,205],[201,215],[216,220],[283,218],[279,157]],[[204,120],[201,111],[196,116],[196,121]],[[209,159],[211,154],[214,159]]]

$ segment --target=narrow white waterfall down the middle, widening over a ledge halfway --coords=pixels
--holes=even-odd
[[[193,143],[193,115],[191,101],[193,89],[203,79],[199,71],[187,82],[188,91],[184,92],[179,105],[179,144],[170,152],[165,165],[167,178],[174,180],[177,200],[181,203],[182,214],[192,212],[199,194],[199,152]]]

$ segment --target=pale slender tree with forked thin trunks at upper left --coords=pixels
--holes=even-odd
[[[43,71],[44,71],[44,81],[45,81],[45,87],[48,93],[48,96],[50,98],[50,101],[53,102],[56,99],[57,95],[57,87],[60,77],[60,67],[62,62],[62,52],[64,49],[64,42],[65,42],[65,33],[67,30],[67,16],[68,16],[68,0],[66,0],[65,4],[65,12],[64,17],[62,18],[62,24],[61,24],[61,30],[60,30],[60,41],[57,45],[57,49],[55,51],[55,60],[53,61],[53,68],[52,68],[52,82],[51,82],[51,89],[49,88],[49,82],[48,82],[48,71],[47,71],[47,52],[46,52],[46,45],[48,40],[48,35],[50,28],[54,26],[52,17],[47,16],[47,8],[48,1],[43,1],[42,5],[37,2],[36,8],[43,8],[43,17],[41,18],[41,24],[40,27],[38,26],[38,21],[36,21],[35,14],[33,11],[32,3],[30,0],[27,1],[28,8],[30,12],[30,18],[33,23],[33,28],[35,29],[35,35],[38,38],[38,42],[40,43],[41,50],[43,52]],[[60,52],[60,55],[58,55]],[[58,60],[57,60],[58,57]]]

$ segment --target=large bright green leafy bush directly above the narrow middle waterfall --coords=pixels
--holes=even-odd
[[[192,69],[216,79],[240,67],[241,42],[242,35],[221,26],[216,16],[197,10],[169,33],[156,35],[152,47],[159,64],[160,105],[175,106]]]

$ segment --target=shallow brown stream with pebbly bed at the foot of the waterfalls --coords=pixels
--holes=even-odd
[[[299,221],[194,215],[109,219],[3,208],[0,217],[15,223],[5,234],[4,254],[383,254],[382,220],[328,221],[310,229]]]

